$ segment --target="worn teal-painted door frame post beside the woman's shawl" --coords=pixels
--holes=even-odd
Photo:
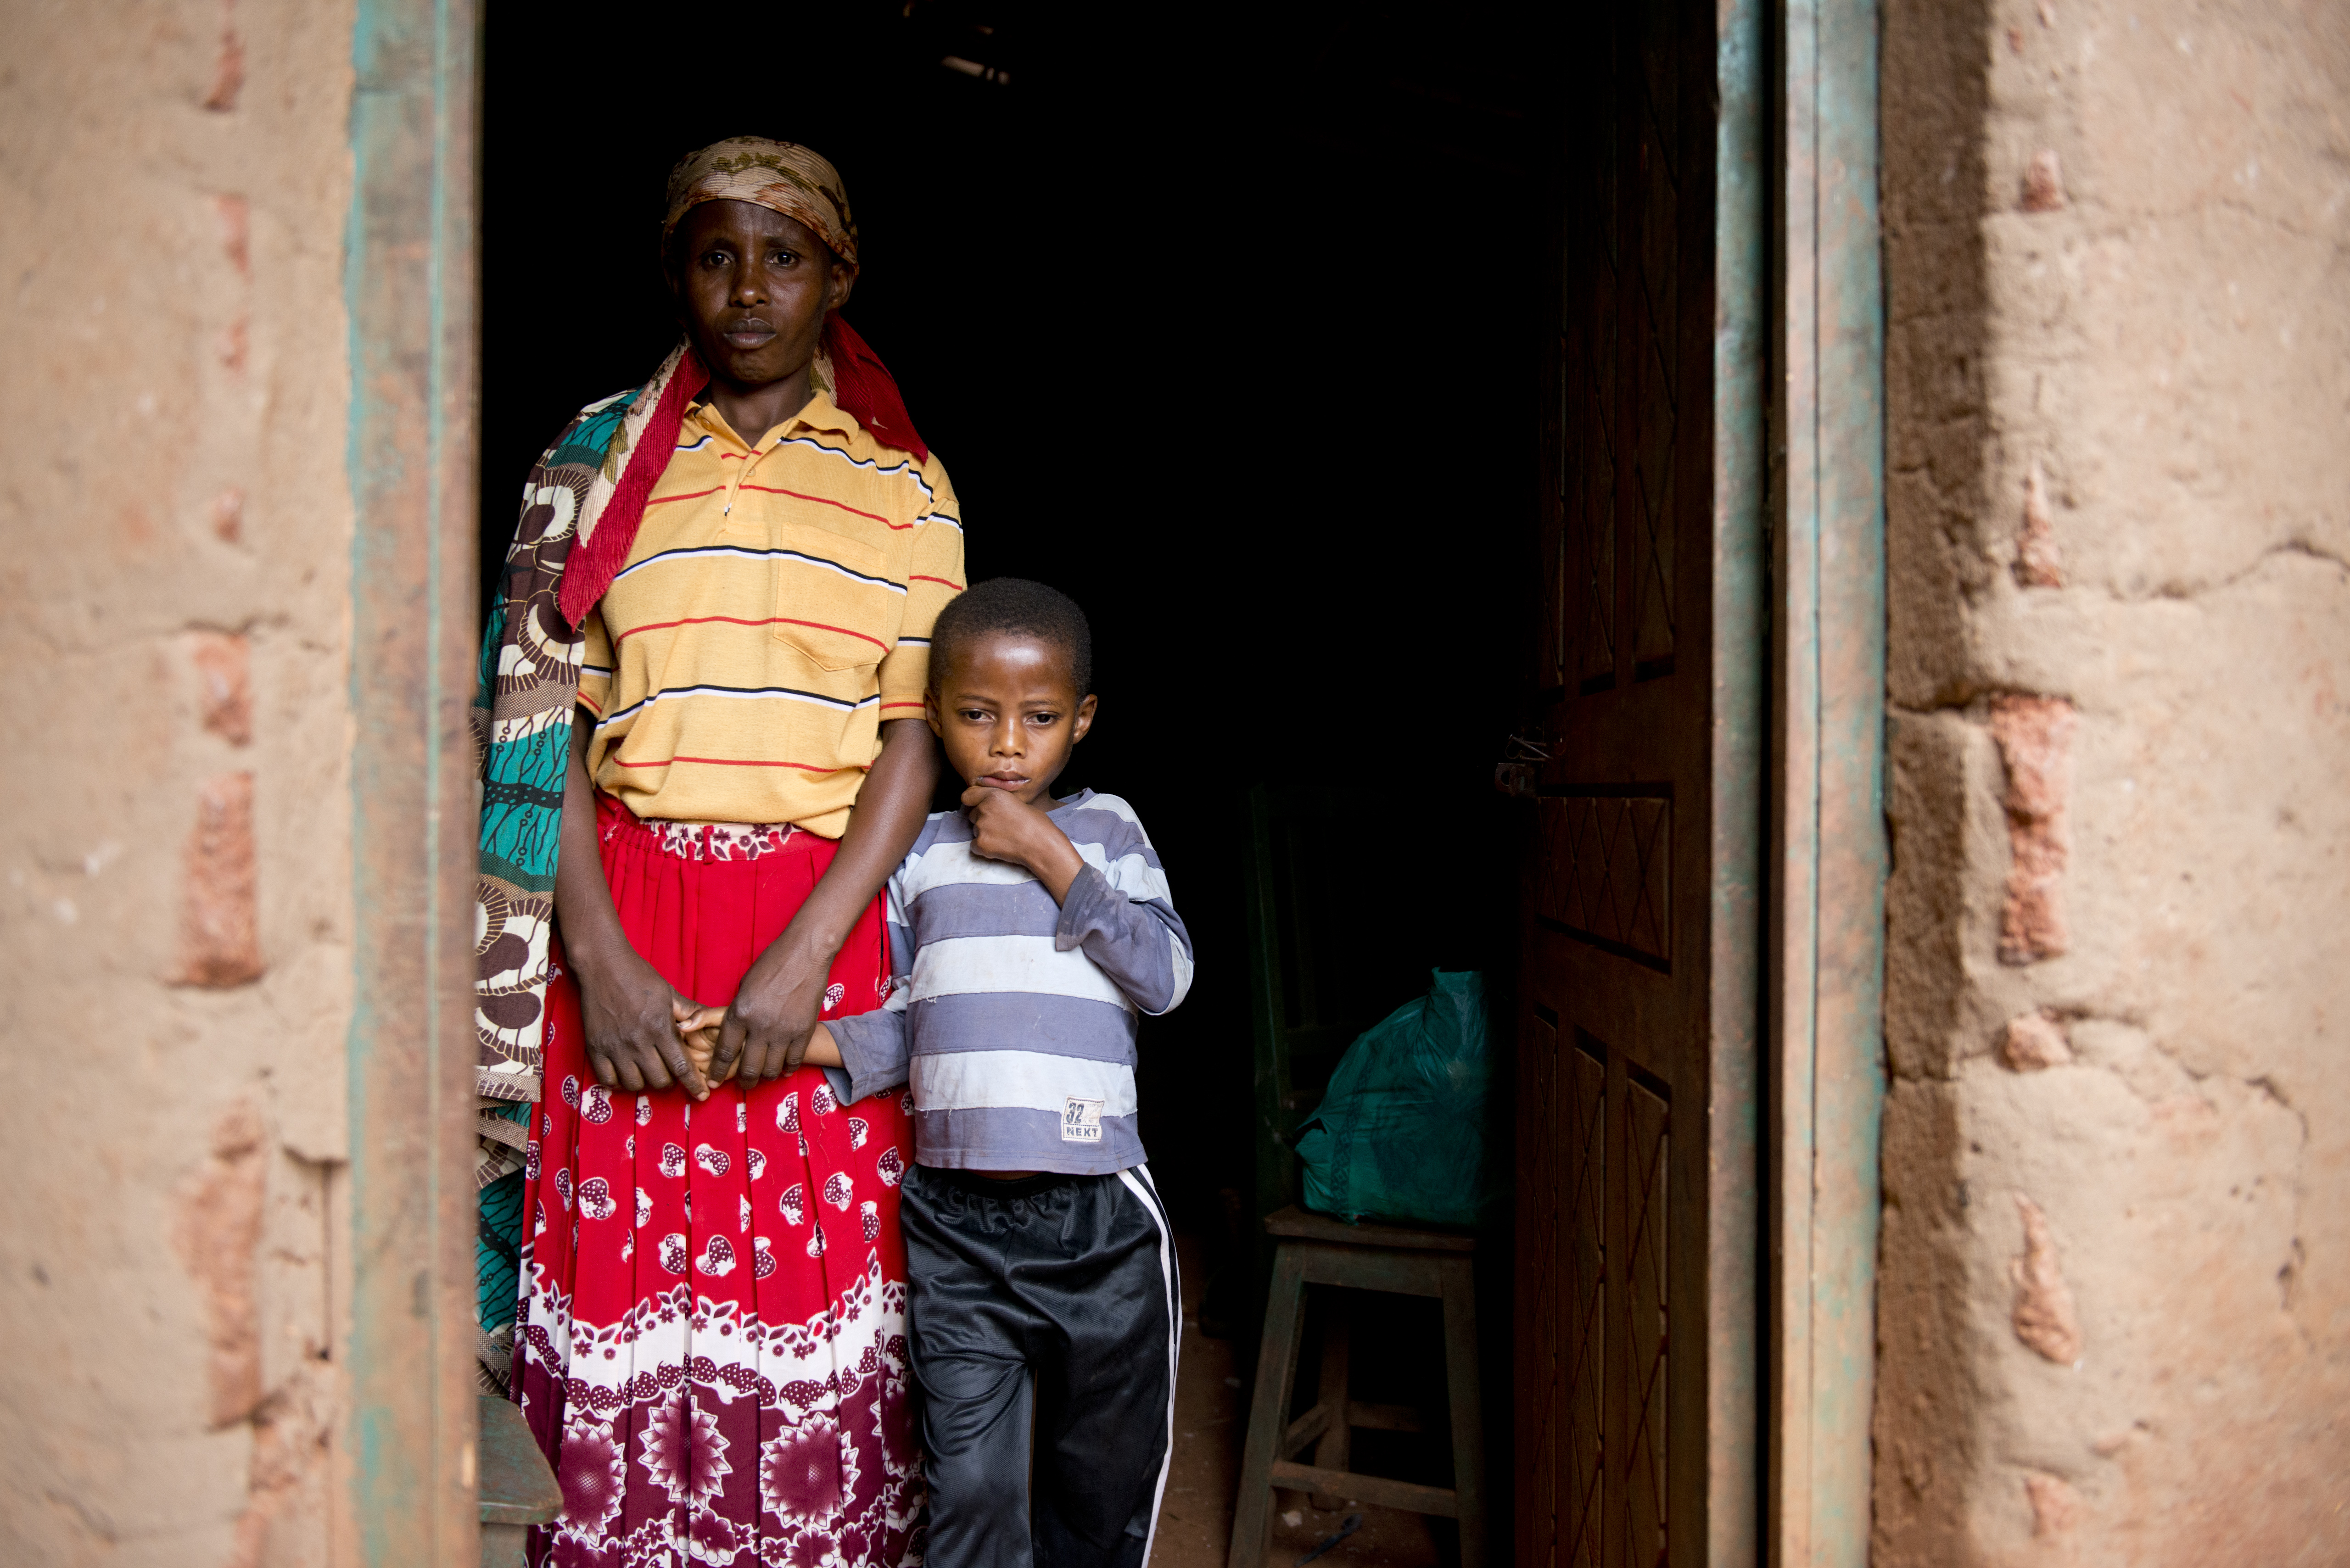
[[[345,235],[355,997],[336,1561],[470,1566],[472,0],[360,0]]]

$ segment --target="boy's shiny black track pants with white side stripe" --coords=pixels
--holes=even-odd
[[[1175,1415],[1175,1237],[1147,1166],[907,1171],[928,1568],[1142,1568]],[[1034,1497],[1029,1465],[1034,1458]]]

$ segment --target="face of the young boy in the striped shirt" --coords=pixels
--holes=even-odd
[[[1069,748],[1093,729],[1093,698],[1076,698],[1069,651],[1020,632],[966,644],[924,693],[924,717],[964,783],[1050,809]]]

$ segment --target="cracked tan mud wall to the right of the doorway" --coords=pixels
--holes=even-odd
[[[2350,9],[1882,63],[1875,1561],[2350,1561]]]

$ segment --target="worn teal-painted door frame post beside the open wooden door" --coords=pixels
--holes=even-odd
[[[1767,1561],[1868,1561],[1885,1100],[1878,9],[1774,14]]]

